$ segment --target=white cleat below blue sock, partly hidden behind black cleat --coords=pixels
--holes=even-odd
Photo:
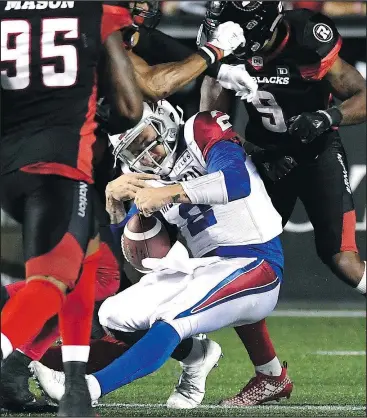
[[[45,392],[45,394],[52,400],[60,402],[60,399],[65,393],[65,373],[49,369],[39,361],[32,361],[30,368],[35,379],[38,381],[40,388]],[[96,406],[98,403],[98,397],[96,397],[96,395],[92,395],[94,392],[91,390],[92,378],[93,376],[85,376],[92,399],[92,406]]]

